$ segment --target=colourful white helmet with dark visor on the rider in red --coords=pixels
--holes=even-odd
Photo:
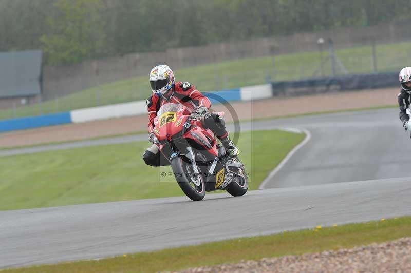
[[[151,90],[157,96],[164,95],[174,84],[174,73],[167,65],[158,65],[150,71]]]

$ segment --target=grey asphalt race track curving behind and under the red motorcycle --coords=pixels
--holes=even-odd
[[[250,191],[239,198],[209,194],[201,202],[177,197],[3,211],[0,268],[94,259],[410,213],[411,178],[398,177],[411,176],[411,140],[401,131],[397,110],[241,124],[242,131],[279,127],[307,129],[311,139],[265,183],[273,189]],[[91,145],[104,142],[98,141],[100,144]],[[121,142],[121,138],[115,141]],[[363,181],[387,178],[396,179]]]

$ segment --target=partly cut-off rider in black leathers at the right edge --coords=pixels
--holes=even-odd
[[[400,120],[406,131],[408,129],[409,116],[406,109],[411,103],[411,67],[404,67],[400,71],[399,80],[401,83],[401,92],[398,94],[398,105],[400,107]]]

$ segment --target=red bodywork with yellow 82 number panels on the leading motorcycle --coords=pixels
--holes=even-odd
[[[163,108],[164,111],[156,116],[153,131],[160,144],[160,152],[170,162],[176,157],[183,157],[183,160],[191,162],[192,155],[188,151],[188,147],[191,147],[206,191],[225,189],[233,174],[240,173],[240,166],[235,163],[228,163],[226,167],[223,165],[227,163],[224,159],[225,149],[217,145],[210,129],[202,127],[201,120],[191,119],[184,114],[184,109],[184,106],[174,104]],[[224,112],[218,114],[223,116]],[[215,159],[217,163],[211,170]]]

